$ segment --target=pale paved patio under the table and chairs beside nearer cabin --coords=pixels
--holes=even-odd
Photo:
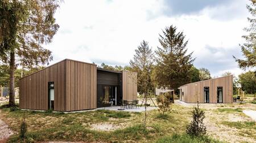
[[[101,108],[97,108],[96,110],[112,110],[112,111],[126,111],[126,112],[143,112],[145,111],[145,107],[144,106],[138,106],[137,108],[134,107],[133,109],[125,109],[125,110],[118,110],[121,109],[121,106],[112,106],[112,107],[101,107]],[[123,107],[122,107],[123,109]],[[154,110],[154,109],[158,109],[157,107],[147,107],[147,111],[150,110]]]

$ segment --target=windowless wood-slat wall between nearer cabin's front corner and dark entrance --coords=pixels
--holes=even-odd
[[[66,111],[96,109],[97,66],[75,60],[67,60]]]

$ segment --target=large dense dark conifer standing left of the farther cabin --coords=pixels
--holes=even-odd
[[[187,54],[187,44],[183,32],[171,25],[163,35],[159,34],[161,47],[156,50],[156,79],[159,86],[178,88],[191,80],[192,53]]]

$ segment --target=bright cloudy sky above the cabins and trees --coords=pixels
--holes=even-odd
[[[51,44],[53,61],[66,58],[110,65],[129,65],[142,40],[152,49],[167,26],[175,25],[194,52],[194,65],[212,76],[238,75],[232,55],[242,57],[239,44],[247,27],[247,0],[105,0],[61,3],[55,14],[59,31]]]

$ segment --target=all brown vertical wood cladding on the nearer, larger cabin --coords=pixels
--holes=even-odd
[[[122,81],[120,89],[123,99],[137,99],[137,73],[123,71],[118,74],[118,78],[98,80],[104,84],[108,80],[116,84],[119,75],[125,80]],[[71,59],[62,60],[21,78],[19,80],[20,108],[48,110],[49,82],[54,83],[55,111],[97,108],[97,65]]]

